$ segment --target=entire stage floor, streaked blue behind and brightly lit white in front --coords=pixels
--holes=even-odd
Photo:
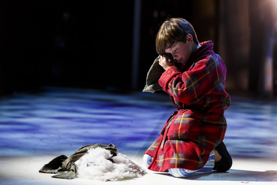
[[[143,166],[145,150],[175,111],[168,95],[45,87],[0,99],[0,184],[277,184],[277,101],[231,95],[224,143],[233,158],[225,173],[184,179]],[[147,172],[101,182],[38,173],[50,160],[88,144],[110,144]]]

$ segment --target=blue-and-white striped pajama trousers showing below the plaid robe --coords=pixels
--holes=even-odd
[[[151,162],[152,162],[153,157],[145,154],[143,156],[143,163],[146,167],[148,167]],[[168,172],[173,175],[174,177],[178,178],[184,178],[184,177],[189,177],[193,175],[201,175],[203,173],[209,173],[213,170],[214,168],[214,150],[210,153],[209,159],[207,163],[203,166],[203,168],[199,170],[187,170],[187,169],[182,169],[182,168],[171,168],[168,169]]]

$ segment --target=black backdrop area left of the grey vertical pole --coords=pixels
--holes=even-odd
[[[1,1],[1,92],[130,86],[133,1]]]

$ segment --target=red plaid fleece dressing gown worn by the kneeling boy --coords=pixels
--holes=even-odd
[[[154,157],[150,170],[201,169],[209,153],[224,139],[224,110],[231,101],[224,90],[226,67],[212,50],[212,41],[200,45],[186,65],[171,66],[159,79],[178,111],[145,152]]]

